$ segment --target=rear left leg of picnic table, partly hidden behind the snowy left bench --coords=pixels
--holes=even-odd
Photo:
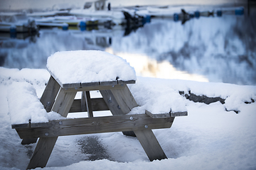
[[[53,107],[53,103],[60,89],[60,85],[57,81],[51,76],[48,84],[46,85],[46,89],[43,91],[43,95],[41,96],[41,103],[47,112],[50,112],[50,109]],[[32,139],[23,139],[21,141],[22,145],[28,145],[31,143],[36,143],[37,138]]]

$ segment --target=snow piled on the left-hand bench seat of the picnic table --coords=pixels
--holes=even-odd
[[[44,123],[62,118],[58,113],[46,113],[43,104],[36,96],[36,89],[26,82],[15,82],[9,87],[9,113],[11,124]]]

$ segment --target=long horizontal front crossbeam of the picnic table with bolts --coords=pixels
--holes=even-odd
[[[148,129],[170,128],[173,121],[174,118],[154,119],[146,114],[114,115],[94,118],[51,120],[48,123],[48,127],[21,128],[17,129],[17,132],[21,138],[46,138],[130,130],[146,130],[146,132],[148,132]],[[151,138],[146,138],[146,140],[151,140]],[[154,145],[154,143],[155,142],[153,142],[152,145]]]

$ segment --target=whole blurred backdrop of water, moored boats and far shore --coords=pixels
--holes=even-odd
[[[0,1],[0,67],[102,50],[137,76],[256,85],[256,1]]]

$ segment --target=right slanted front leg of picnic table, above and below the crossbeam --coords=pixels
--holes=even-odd
[[[127,114],[132,108],[138,106],[127,85],[124,85],[124,89],[100,91],[100,93],[113,115]],[[150,161],[167,158],[151,129],[145,128],[145,130],[137,130],[134,133]]]

